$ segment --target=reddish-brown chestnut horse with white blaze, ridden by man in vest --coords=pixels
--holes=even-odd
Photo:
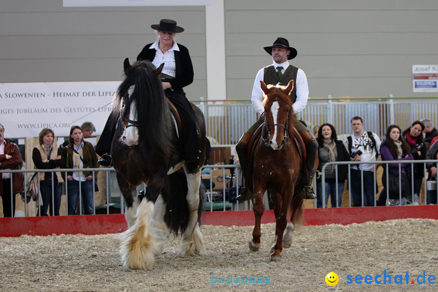
[[[300,177],[301,158],[293,142],[295,119],[289,93],[293,80],[287,86],[268,85],[260,81],[265,107],[265,122],[262,136],[254,152],[254,215],[256,223],[249,248],[255,252],[260,247],[260,222],[264,212],[263,195],[269,190],[274,202],[276,219],[274,245],[271,248],[271,261],[281,260],[281,251],[292,244],[294,223],[303,218],[303,199],[294,196],[295,185]],[[291,141],[290,141],[291,139]],[[291,221],[287,222],[288,211],[292,211]],[[284,230],[287,230],[283,237]]]

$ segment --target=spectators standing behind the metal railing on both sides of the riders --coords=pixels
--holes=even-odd
[[[314,128],[318,143],[318,168],[316,175],[316,207],[341,207],[345,189],[349,188],[352,205],[418,205],[424,179],[426,204],[437,204],[437,164],[422,163],[438,158],[438,130],[429,119],[414,121],[402,130],[397,125],[387,127],[384,140],[366,131],[364,120],[351,118],[352,134],[339,140],[336,128],[324,123]],[[63,190],[69,194],[68,215],[75,215],[78,203],[83,204],[84,214],[93,214],[93,183],[91,172],[74,171],[76,168],[96,168],[98,155],[91,143],[84,138],[95,131],[91,122],[73,126],[69,139],[57,147],[55,132],[43,128],[38,135],[38,146],[34,147],[32,160],[37,169],[71,168],[67,173],[40,172],[40,206],[38,216],[58,216]],[[419,163],[404,163],[418,160]],[[331,164],[334,162],[358,162],[357,164]],[[366,162],[370,162],[366,164]],[[18,146],[5,138],[5,128],[0,124],[0,169],[20,169],[22,164]],[[378,190],[377,169],[383,168],[383,189]],[[424,169],[427,169],[426,176]],[[65,178],[67,181],[65,182]],[[63,187],[63,184],[66,187]],[[21,173],[1,174],[0,196],[4,217],[14,217],[15,194],[24,192]],[[80,189],[80,190],[79,190]],[[323,189],[325,198],[323,198]],[[82,202],[79,202],[79,193]],[[377,200],[376,200],[377,199]]]

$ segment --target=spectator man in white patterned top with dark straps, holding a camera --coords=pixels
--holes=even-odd
[[[344,145],[350,155],[350,161],[371,162],[377,161],[380,155],[381,141],[379,136],[373,132],[364,130],[364,120],[355,116],[351,119],[353,135],[348,136]],[[374,183],[374,170],[378,165],[375,164],[355,164],[350,169],[350,186],[353,207],[374,206],[377,192]],[[363,184],[363,189],[362,189]]]

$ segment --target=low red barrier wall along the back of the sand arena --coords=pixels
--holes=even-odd
[[[389,219],[438,219],[438,205],[351,207],[305,209],[304,225],[351,224]],[[275,222],[274,211],[265,211],[262,223]],[[248,226],[254,224],[253,211],[205,212],[202,224],[222,226]],[[52,234],[108,234],[120,233],[128,228],[123,214],[82,215],[58,217],[0,218],[0,236],[47,236]]]

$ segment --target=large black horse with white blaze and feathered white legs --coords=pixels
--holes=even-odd
[[[178,131],[159,75],[149,61],[129,64],[125,79],[113,97],[112,116],[117,117],[111,153],[117,182],[126,201],[129,229],[122,236],[124,267],[146,269],[161,253],[169,231],[182,233],[179,254],[196,255],[203,249],[199,228],[205,189],[201,172],[187,174]],[[201,165],[205,156],[205,122],[196,106],[196,125],[201,142]],[[184,125],[182,126],[184,127]],[[146,183],[138,205],[136,187]]]

